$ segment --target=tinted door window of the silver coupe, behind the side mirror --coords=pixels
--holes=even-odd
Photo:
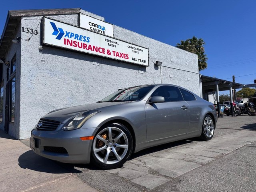
[[[151,96],[162,96],[165,102],[183,101],[179,88],[173,86],[158,87]]]

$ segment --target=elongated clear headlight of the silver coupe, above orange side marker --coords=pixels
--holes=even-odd
[[[64,131],[79,129],[88,119],[90,119],[92,116],[94,116],[99,112],[100,111],[98,110],[89,110],[89,111],[80,113],[78,116],[74,117],[68,124],[66,124],[62,129]]]

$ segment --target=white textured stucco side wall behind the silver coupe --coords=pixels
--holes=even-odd
[[[78,25],[78,15],[49,17]],[[20,139],[28,138],[40,117],[54,109],[97,102],[118,88],[160,83],[161,70],[162,83],[200,94],[195,54],[118,26],[114,26],[115,38],[149,48],[149,67],[47,46],[39,50],[41,18],[21,20],[23,27],[37,29],[38,34],[22,32]],[[161,70],[154,65],[156,60],[163,62]]]

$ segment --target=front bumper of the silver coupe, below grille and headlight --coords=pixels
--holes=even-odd
[[[30,146],[34,152],[48,159],[64,163],[89,163],[92,140],[82,141],[80,137],[93,136],[96,128],[63,131],[31,132]]]

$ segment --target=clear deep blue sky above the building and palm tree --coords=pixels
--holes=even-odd
[[[1,2],[0,33],[8,10],[82,8],[106,22],[175,46],[196,36],[205,42],[201,74],[242,84],[256,79],[255,0],[44,0]]]

